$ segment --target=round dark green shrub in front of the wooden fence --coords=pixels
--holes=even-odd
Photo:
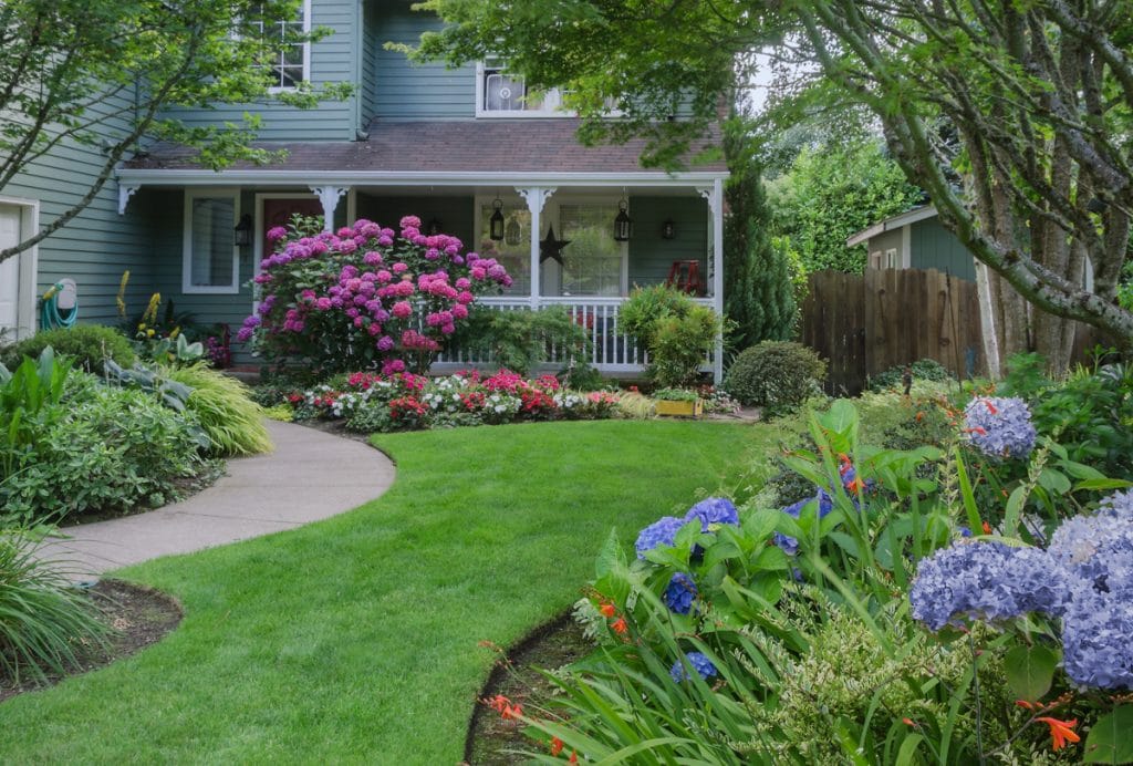
[[[821,393],[826,363],[801,343],[764,341],[740,352],[723,389],[742,405],[787,411]]]

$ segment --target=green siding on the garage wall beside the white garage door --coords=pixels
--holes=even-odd
[[[116,96],[94,108],[104,116],[127,110],[109,119],[108,137],[128,129],[130,104],[129,99]],[[45,227],[90,190],[104,161],[97,146],[63,142],[18,173],[0,189],[0,196],[37,201],[40,225]],[[150,225],[137,208],[118,214],[118,184],[111,179],[78,216],[40,242],[36,291],[42,295],[69,276],[78,284],[79,322],[117,324],[114,298],[127,270],[127,309],[140,312],[153,284]]]

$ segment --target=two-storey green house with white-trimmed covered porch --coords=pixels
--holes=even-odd
[[[523,80],[497,61],[458,69],[410,65],[384,44],[414,43],[440,24],[410,5],[305,0],[288,23],[331,34],[283,57],[273,68],[278,87],[351,83],[353,95],[314,110],[170,111],[190,125],[258,112],[258,145],[286,150],[287,158],[216,172],[182,147],[144,145],[76,220],[0,264],[0,330],[9,338],[34,332],[39,296],[62,278],[78,284],[80,321],[118,323],[126,271],[131,314],[160,292],[197,322],[235,330],[256,301],[252,281],[266,253],[265,232],[293,213],[322,215],[329,229],[358,218],[397,225],[406,214],[419,216],[508,266],[513,286],[485,303],[565,306],[593,331],[591,361],[603,372],[641,368],[641,354],[619,332],[619,307],[633,286],[666,281],[674,262],[695,262],[696,299],[723,308],[723,162],[678,173],[647,170],[640,142],[581,146],[578,120],[559,109],[556,93],[525,97]],[[111,100],[105,108],[118,105]],[[111,120],[107,129],[125,127]],[[96,147],[61,146],[0,189],[0,246],[74,204],[101,159]],[[497,208],[505,216],[501,240],[487,236]],[[633,222],[628,241],[614,238],[622,208]],[[561,265],[539,259],[539,240],[552,228],[572,242]],[[255,361],[239,346],[233,351],[238,361]],[[718,374],[719,355],[713,364]]]

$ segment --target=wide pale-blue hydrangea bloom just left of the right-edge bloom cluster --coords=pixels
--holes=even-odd
[[[964,616],[1006,620],[1062,614],[1067,585],[1046,551],[1003,543],[956,543],[923,559],[909,593],[914,619],[931,630]]]

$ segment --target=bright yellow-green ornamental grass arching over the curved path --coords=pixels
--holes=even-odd
[[[203,361],[168,368],[164,375],[190,390],[185,406],[208,435],[211,454],[256,454],[272,450],[263,423],[264,410],[249,398],[244,383]]]

